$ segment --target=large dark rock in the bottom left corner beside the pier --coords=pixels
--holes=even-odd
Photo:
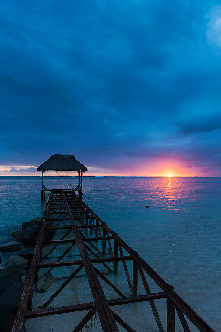
[[[18,305],[21,299],[23,286],[20,283],[14,284],[0,295],[0,322],[1,332],[8,332],[12,307]]]

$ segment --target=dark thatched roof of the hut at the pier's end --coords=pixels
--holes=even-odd
[[[72,154],[53,154],[47,161],[41,164],[37,171],[83,171],[87,168],[79,163]]]

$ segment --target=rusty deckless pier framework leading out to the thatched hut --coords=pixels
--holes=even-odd
[[[47,230],[63,230],[65,234],[61,239],[46,241],[44,239]],[[88,232],[83,234],[83,231]],[[73,237],[67,238],[72,234]],[[85,236],[88,235],[88,236]],[[51,253],[59,248],[59,245],[67,245],[65,251],[55,262],[41,262],[50,258]],[[77,245],[77,249],[75,248]],[[44,248],[43,248],[44,247]],[[47,249],[49,248],[49,249]],[[64,261],[71,249],[78,250],[81,259]],[[99,250],[101,249],[101,251]],[[108,249],[109,257],[106,257]],[[44,254],[43,254],[44,252]],[[101,255],[103,257],[101,257]],[[132,271],[129,273],[127,262],[132,261]],[[122,263],[125,272],[125,281],[131,296],[126,296],[119,290],[94,264],[100,263],[110,273],[118,273],[118,264]],[[109,264],[112,263],[111,269]],[[32,298],[34,284],[39,279],[39,271],[52,272],[54,268],[64,266],[76,266],[76,269],[55,291],[55,293],[42,304],[41,309],[33,310]],[[68,283],[84,268],[94,302],[79,303],[67,306],[48,308],[55,297],[68,285]],[[160,287],[161,292],[151,293],[145,273]],[[140,275],[144,294],[138,294],[138,275]],[[107,299],[100,277],[120,297]],[[35,317],[56,315],[68,312],[87,310],[85,317],[73,326],[72,332],[81,331],[95,313],[98,314],[103,331],[119,331],[120,324],[126,331],[135,331],[112,309],[112,306],[149,301],[156,324],[160,332],[164,332],[155,300],[166,299],[165,309],[167,316],[167,332],[175,331],[175,310],[181,322],[184,332],[189,332],[187,317],[201,332],[215,332],[173,289],[168,285],[139,255],[128,246],[117,233],[115,233],[97,214],[93,212],[72,190],[52,190],[47,203],[45,216],[35,247],[33,259],[28,263],[25,286],[21,301],[14,307],[11,314],[9,331],[19,332],[23,330],[26,319]]]

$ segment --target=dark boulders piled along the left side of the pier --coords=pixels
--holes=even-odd
[[[12,253],[12,256],[9,256],[5,262],[0,264],[1,332],[8,332],[11,309],[18,305],[21,299],[27,263],[33,258],[42,220],[42,217],[36,217],[29,222],[23,222],[21,230],[15,229],[11,233],[11,236],[15,237],[14,240],[0,245],[0,252]],[[54,236],[54,230],[47,230],[44,239],[52,240]],[[43,275],[37,283],[36,290],[44,292],[45,283],[47,283],[47,276]]]

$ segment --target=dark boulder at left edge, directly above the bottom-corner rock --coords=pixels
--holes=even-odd
[[[15,264],[6,266],[0,271],[0,293],[8,290],[21,280],[22,272]]]

